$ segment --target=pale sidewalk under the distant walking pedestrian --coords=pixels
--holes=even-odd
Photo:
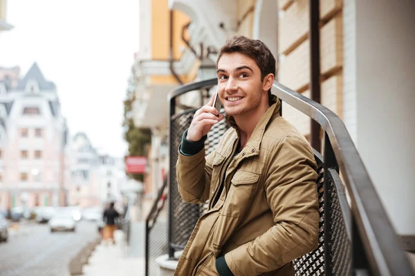
[[[101,242],[89,258],[89,264],[83,267],[85,276],[144,276],[145,256],[129,254],[129,248],[124,245],[124,233],[116,230],[116,244]],[[144,244],[142,244],[144,246]],[[142,251],[144,252],[144,250]]]

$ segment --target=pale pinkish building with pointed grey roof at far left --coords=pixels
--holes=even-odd
[[[68,128],[55,83],[36,63],[16,86],[2,83],[0,206],[64,205]]]

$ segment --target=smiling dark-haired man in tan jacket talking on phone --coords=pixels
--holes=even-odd
[[[177,162],[183,200],[209,210],[197,222],[175,275],[293,275],[293,259],[317,247],[317,172],[311,147],[279,115],[271,95],[275,58],[258,40],[235,36],[216,61],[230,128],[205,157],[223,115],[197,110]]]

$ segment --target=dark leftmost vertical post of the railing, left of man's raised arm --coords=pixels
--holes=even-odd
[[[176,97],[172,97],[170,99],[170,105],[169,105],[169,175],[167,175],[167,188],[169,191],[169,226],[168,226],[168,244],[167,248],[169,250],[169,259],[174,259],[174,248],[172,247],[172,238],[173,238],[173,193],[172,193],[172,173],[176,173],[172,171],[173,164],[172,164],[172,146],[173,146],[173,135],[172,135],[172,116],[176,112]]]

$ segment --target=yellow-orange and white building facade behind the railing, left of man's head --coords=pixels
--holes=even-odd
[[[134,124],[151,129],[145,201],[151,202],[157,195],[167,171],[167,95],[197,77],[200,62],[182,39],[190,37],[189,24],[190,18],[182,11],[170,10],[167,0],[140,0],[140,48],[128,89],[136,98]]]

